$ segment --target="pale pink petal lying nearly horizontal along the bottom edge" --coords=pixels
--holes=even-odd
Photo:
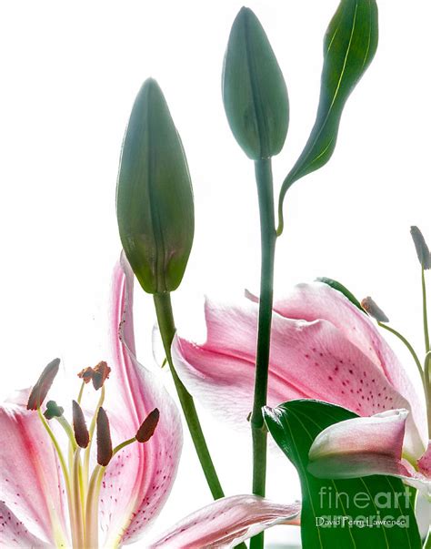
[[[189,514],[148,549],[235,547],[276,524],[299,524],[300,503],[282,505],[256,495],[234,495]]]

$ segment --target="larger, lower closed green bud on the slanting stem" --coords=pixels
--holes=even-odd
[[[135,99],[125,131],[116,214],[125,256],[143,289],[175,290],[193,243],[193,191],[181,138],[151,78]]]

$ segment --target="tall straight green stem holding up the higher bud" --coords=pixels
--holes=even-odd
[[[273,312],[274,259],[276,253],[276,222],[274,217],[271,160],[269,158],[257,160],[255,171],[259,198],[262,257],[255,399],[250,422],[253,436],[253,493],[264,496],[266,490],[266,429],[262,407],[266,405],[268,387],[269,348]],[[257,534],[250,541],[250,549],[261,549],[263,546],[264,533]]]

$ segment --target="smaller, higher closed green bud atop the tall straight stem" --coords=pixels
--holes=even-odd
[[[285,79],[256,15],[241,8],[229,36],[223,68],[229,126],[248,158],[269,158],[285,144],[289,102]]]

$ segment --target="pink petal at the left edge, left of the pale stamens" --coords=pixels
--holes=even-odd
[[[0,544],[10,535],[32,536],[42,544],[65,542],[65,493],[53,445],[37,412],[26,410],[29,390],[0,406],[0,492],[5,529]],[[17,466],[19,463],[19,466]],[[7,526],[8,513],[16,529]],[[36,545],[38,546],[38,545]]]

